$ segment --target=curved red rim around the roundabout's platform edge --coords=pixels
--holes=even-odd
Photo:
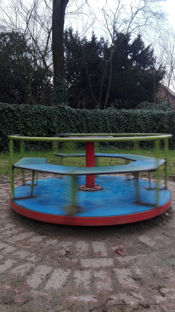
[[[163,212],[167,211],[171,207],[172,197],[162,206],[155,207],[153,209],[136,212],[132,214],[120,215],[120,216],[105,216],[105,217],[76,217],[76,216],[62,216],[54,215],[44,212],[36,212],[27,208],[24,208],[15,203],[10,198],[11,207],[19,214],[35,219],[42,222],[64,224],[64,225],[77,225],[77,226],[103,226],[103,225],[117,225],[139,222],[147,220],[153,217],[157,217]]]

